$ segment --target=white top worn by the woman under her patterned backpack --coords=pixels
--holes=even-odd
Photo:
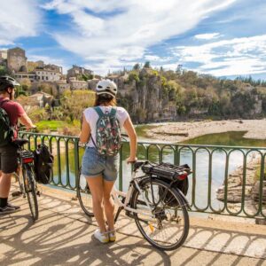
[[[99,106],[103,113],[110,113],[112,106]],[[122,128],[124,125],[124,122],[129,118],[129,113],[120,106],[114,106],[113,108],[116,108],[116,117],[117,120],[119,121],[120,127]],[[94,142],[96,143],[96,124],[98,121],[98,113],[94,110],[93,107],[89,107],[83,111],[83,114],[85,116],[86,121],[90,125],[90,135],[93,137]],[[93,142],[90,140],[87,144],[89,147],[94,147]]]

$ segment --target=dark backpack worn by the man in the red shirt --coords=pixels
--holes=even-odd
[[[2,108],[3,104],[6,102],[9,102],[9,100],[4,100],[0,103],[0,147],[12,142],[14,137],[14,131],[10,124],[9,116],[4,108]]]

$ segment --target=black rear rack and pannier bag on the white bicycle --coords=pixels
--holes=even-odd
[[[168,184],[175,181],[175,183],[172,184],[172,187],[183,192],[184,195],[187,194],[189,188],[187,176],[192,173],[191,168],[187,164],[176,166],[174,164],[164,162],[156,165],[147,163],[142,167],[142,170],[145,174],[157,176],[158,178],[166,181]],[[165,196],[163,197],[164,204],[169,207],[177,207],[178,203],[175,197],[171,192],[167,192],[166,195],[164,195],[165,191],[166,189],[159,187],[160,197]]]

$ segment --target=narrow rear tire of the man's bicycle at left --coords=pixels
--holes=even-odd
[[[27,202],[34,221],[39,218],[39,208],[36,195],[36,184],[33,170],[29,165],[23,166],[22,171],[24,190],[27,194]]]

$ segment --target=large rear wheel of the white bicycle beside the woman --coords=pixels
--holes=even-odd
[[[135,213],[134,218],[138,230],[153,246],[162,250],[173,250],[183,245],[189,232],[189,215],[184,201],[175,189],[168,184],[148,178],[141,184],[142,193],[137,190],[132,195],[131,207],[141,213]],[[143,194],[143,195],[142,195]],[[169,200],[170,199],[170,200]],[[149,203],[153,210],[153,218],[148,217]]]

